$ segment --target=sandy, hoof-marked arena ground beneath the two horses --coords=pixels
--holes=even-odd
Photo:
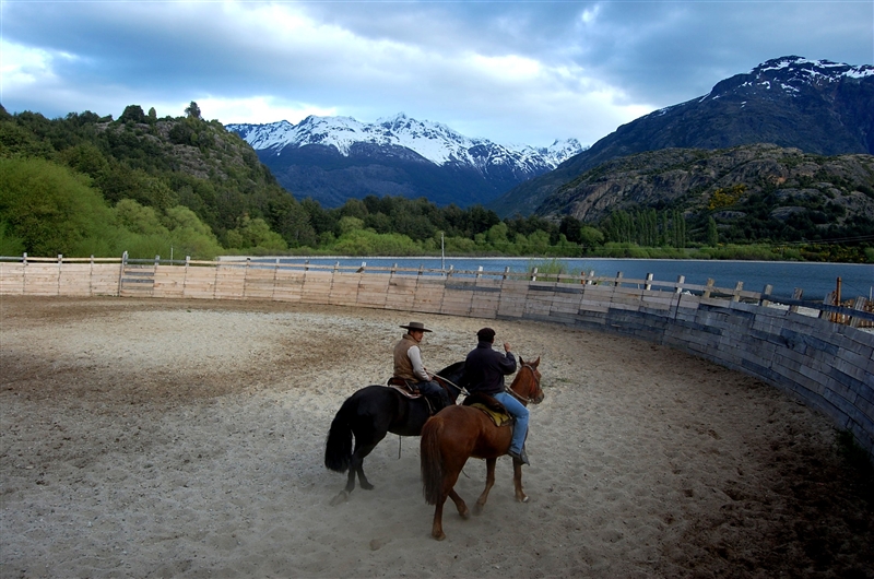
[[[336,507],[331,418],[399,324],[542,356],[528,504],[430,537],[418,439]],[[870,473],[822,415],[666,347],[524,321],[276,303],[0,297],[1,577],[874,577]],[[399,458],[400,452],[400,458]],[[485,463],[457,491],[472,505]]]

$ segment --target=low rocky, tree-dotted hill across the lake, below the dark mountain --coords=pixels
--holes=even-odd
[[[707,245],[874,246],[874,156],[755,144],[663,149],[599,165],[538,214],[601,223],[614,240],[659,245],[681,223]]]

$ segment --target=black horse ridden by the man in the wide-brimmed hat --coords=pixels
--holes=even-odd
[[[435,377],[436,381],[448,386],[449,399],[453,403],[459,394],[454,385],[462,383],[463,376],[464,362],[457,362]],[[364,475],[364,458],[388,433],[421,436],[428,416],[425,397],[411,399],[387,386],[366,386],[349,397],[336,411],[324,445],[324,465],[336,472],[349,471],[346,487],[331,503],[335,505],[349,498],[355,488],[356,473],[361,487],[371,489],[374,485]]]

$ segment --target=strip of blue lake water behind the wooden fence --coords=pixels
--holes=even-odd
[[[501,272],[510,268],[513,272],[530,271],[532,265],[552,262],[552,259],[532,258],[282,258],[282,262],[298,263],[308,260],[312,264],[361,265],[439,270],[446,269],[476,271],[481,265],[484,271]],[[268,260],[264,260],[268,261]],[[272,259],[270,261],[273,261]],[[867,263],[812,263],[795,261],[710,261],[677,259],[556,259],[566,265],[566,272],[578,273],[594,270],[595,275],[615,276],[622,272],[623,277],[633,280],[646,279],[648,273],[663,282],[674,282],[678,275],[686,276],[686,283],[706,284],[708,279],[716,282],[717,287],[732,288],[737,282],[744,283],[744,290],[761,292],[766,285],[773,286],[772,294],[792,297],[796,287],[804,291],[803,299],[822,299],[835,291],[837,279],[841,279],[841,297],[849,299],[857,296],[874,297],[874,265]]]

